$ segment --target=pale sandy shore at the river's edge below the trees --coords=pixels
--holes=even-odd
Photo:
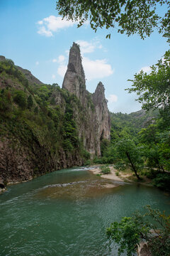
[[[111,179],[113,181],[124,181],[124,178],[128,178],[128,174],[120,174],[120,176],[115,175],[115,172],[118,171],[116,169],[113,168],[113,166],[109,167],[111,170],[110,174],[102,174],[101,173],[101,169],[99,167],[96,167],[94,169],[90,169],[89,171],[93,172],[94,174],[101,174],[102,178],[108,178]]]

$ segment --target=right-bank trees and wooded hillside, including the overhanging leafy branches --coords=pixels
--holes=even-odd
[[[114,164],[115,169],[131,169],[138,180],[152,179],[154,186],[170,191],[170,51],[132,80],[143,110],[132,114],[111,113],[111,142],[102,142],[98,164]]]

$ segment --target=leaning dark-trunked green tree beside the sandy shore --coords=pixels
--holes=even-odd
[[[116,144],[118,152],[117,169],[129,168],[135,172],[138,179],[141,179],[138,172],[143,167],[140,149],[131,139],[122,139]]]

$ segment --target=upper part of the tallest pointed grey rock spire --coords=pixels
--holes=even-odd
[[[80,49],[77,43],[73,43],[69,51],[69,64],[67,65],[62,88],[77,95],[79,99],[85,95],[86,81],[81,63]]]

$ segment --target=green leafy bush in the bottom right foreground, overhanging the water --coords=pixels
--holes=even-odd
[[[125,250],[131,256],[137,250],[137,245],[145,239],[148,242],[152,256],[169,256],[170,252],[170,215],[166,216],[150,206],[145,214],[133,213],[132,217],[124,217],[111,223],[106,233],[118,246],[118,255]],[[149,218],[148,218],[149,217]]]

